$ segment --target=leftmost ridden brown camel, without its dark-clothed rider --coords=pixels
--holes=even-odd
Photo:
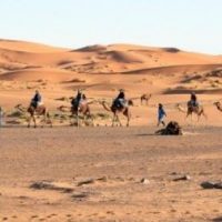
[[[33,120],[34,128],[37,128],[36,115],[43,117],[43,120],[41,120],[41,122],[42,122],[41,127],[42,128],[43,128],[43,124],[50,124],[50,127],[52,127],[52,121],[50,119],[50,114],[49,114],[49,112],[48,112],[48,110],[44,105],[39,105],[36,109],[31,104],[28,108],[24,108],[22,104],[18,104],[14,108],[18,109],[21,112],[28,112],[30,114],[30,117],[28,118],[28,128],[30,128],[30,125],[31,125],[31,120]]]

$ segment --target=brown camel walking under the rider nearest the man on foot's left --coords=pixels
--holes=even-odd
[[[133,101],[132,100],[128,101],[128,105],[125,108],[117,108],[114,105],[114,103],[111,107],[109,107],[105,101],[102,101],[101,104],[107,111],[113,113],[112,127],[114,127],[114,122],[115,121],[118,121],[120,123],[120,127],[122,127],[122,123],[121,123],[120,118],[119,118],[119,113],[122,113],[124,117],[127,117],[127,119],[128,119],[127,127],[130,125],[131,112],[130,112],[130,108],[129,107],[133,105]]]

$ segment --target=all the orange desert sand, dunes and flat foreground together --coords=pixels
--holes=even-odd
[[[221,190],[203,181],[222,173],[222,56],[131,44],[61,49],[0,40],[0,220],[2,221],[222,221]],[[27,129],[28,107],[39,89],[53,128]],[[83,89],[95,127],[70,127],[58,110]],[[132,99],[130,128],[110,128],[98,102],[124,89]],[[185,119],[195,91],[206,119]],[[140,103],[152,94],[149,104]],[[154,135],[157,107],[182,137]],[[39,123],[40,120],[38,120]],[[121,117],[124,124],[125,119]],[[185,181],[174,181],[189,175]],[[144,179],[143,182],[142,179]],[[88,184],[80,185],[81,181]]]

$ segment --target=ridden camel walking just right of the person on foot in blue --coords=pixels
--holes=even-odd
[[[180,104],[176,104],[176,108],[178,108],[179,111],[186,113],[186,118],[192,117],[193,113],[198,115],[198,121],[200,120],[201,115],[206,118],[206,114],[205,114],[202,105],[193,107],[191,101],[189,101],[186,103],[186,105],[188,105],[188,110],[185,111]]]

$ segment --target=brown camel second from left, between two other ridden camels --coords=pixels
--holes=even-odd
[[[91,110],[90,110],[90,105],[93,103],[92,102],[81,102],[79,104],[79,108],[73,105],[73,107],[65,107],[65,105],[61,105],[58,108],[58,110],[62,111],[62,112],[71,112],[71,117],[75,117],[77,118],[77,127],[80,125],[80,121],[79,121],[79,117],[80,113],[83,115],[83,120],[85,120],[87,118],[91,119],[92,124],[93,124],[93,117],[91,114]],[[72,123],[71,123],[72,124]]]

